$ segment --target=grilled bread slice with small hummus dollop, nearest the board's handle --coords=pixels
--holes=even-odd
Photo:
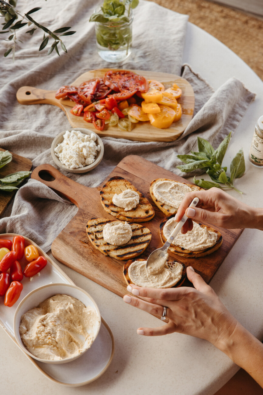
[[[118,207],[112,203],[112,198],[115,194],[120,194],[126,189],[131,189],[137,192],[140,196],[140,201],[134,209],[124,211],[122,207]],[[115,176],[110,178],[100,192],[101,204],[104,210],[118,218],[119,220],[128,222],[145,222],[154,217],[154,209],[148,199],[146,199],[138,189],[125,180],[123,177]]]

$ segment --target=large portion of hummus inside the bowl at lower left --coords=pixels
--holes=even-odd
[[[54,295],[21,317],[24,346],[38,358],[59,360],[90,348],[99,326],[94,308],[68,295]]]

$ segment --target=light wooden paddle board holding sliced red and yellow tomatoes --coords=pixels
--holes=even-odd
[[[78,87],[84,81],[95,77],[103,77],[108,70],[116,69],[97,69],[87,71],[80,75],[70,85]],[[131,70],[137,74],[143,75],[146,79],[155,79],[161,82],[164,87],[170,88],[173,83],[176,83],[182,89],[182,96],[178,99],[178,103],[182,106],[182,117],[178,122],[173,124],[167,129],[155,128],[150,122],[138,122],[132,124],[131,132],[125,132],[118,129],[117,126],[106,126],[101,132],[96,130],[92,123],[84,121],[80,117],[71,114],[70,110],[74,107],[75,102],[71,100],[56,99],[56,90],[45,90],[34,87],[21,87],[17,91],[17,100],[21,104],[53,104],[60,107],[67,115],[69,123],[73,128],[87,128],[94,130],[100,137],[111,136],[116,138],[124,138],[136,141],[173,141],[183,133],[194,114],[194,91],[188,81],[178,75],[168,73],[158,73],[154,71],[144,70]],[[69,81],[65,81],[64,85],[69,85]]]

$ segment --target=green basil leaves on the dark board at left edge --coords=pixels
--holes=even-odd
[[[9,151],[0,151],[0,168],[11,162],[12,154]],[[32,171],[17,171],[16,173],[8,174],[4,178],[0,178],[0,190],[12,192],[21,182],[30,175]]]

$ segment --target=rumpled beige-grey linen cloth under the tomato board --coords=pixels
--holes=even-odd
[[[50,154],[50,146],[58,133],[70,127],[69,122],[58,107],[20,105],[15,94],[23,85],[54,90],[62,85],[70,85],[85,71],[102,67],[153,70],[177,75],[182,71],[182,76],[194,89],[195,109],[192,121],[179,139],[169,143],[144,143],[104,137],[103,160],[91,172],[77,175],[59,170],[81,184],[95,187],[106,179],[121,159],[136,154],[173,173],[183,175],[176,168],[181,164],[177,154],[198,150],[198,135],[217,147],[230,130],[235,131],[255,95],[235,78],[229,79],[214,92],[190,66],[184,65],[182,68],[188,16],[144,0],[140,0],[139,6],[134,10],[131,56],[118,65],[104,62],[97,55],[94,23],[88,23],[98,4],[94,0],[75,0],[74,6],[72,2],[63,0],[38,0],[31,7],[26,0],[19,0],[20,10],[24,12],[35,6],[42,6],[32,16],[51,30],[72,26],[71,30],[76,30],[76,33],[65,37],[68,54],[60,50],[60,57],[55,51],[46,56],[48,49],[38,51],[43,32],[37,30],[31,37],[24,34],[28,30],[28,26],[25,26],[17,32],[23,37],[24,43],[17,45],[14,64],[10,57],[3,57],[10,42],[1,41],[0,147],[29,158],[34,167],[44,163],[56,167]],[[74,205],[60,198],[50,188],[30,179],[17,191],[13,203],[2,215],[0,233],[24,234],[44,251],[48,251],[52,241],[76,211]]]

